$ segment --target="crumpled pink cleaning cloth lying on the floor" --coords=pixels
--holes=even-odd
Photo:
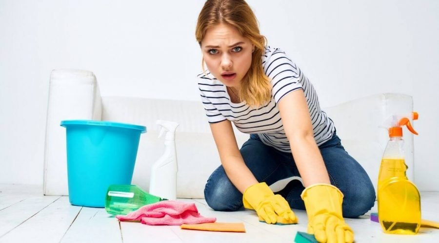
[[[117,215],[120,221],[139,221],[142,224],[156,226],[180,226],[182,224],[214,223],[216,218],[205,218],[198,213],[195,203],[165,200],[145,205],[127,215]]]

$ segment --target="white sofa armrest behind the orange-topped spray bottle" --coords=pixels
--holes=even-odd
[[[404,94],[378,94],[324,109],[334,121],[337,134],[346,151],[366,170],[377,191],[379,166],[388,133],[384,121],[392,114],[413,111],[413,99]],[[404,130],[407,177],[414,178],[413,134]]]

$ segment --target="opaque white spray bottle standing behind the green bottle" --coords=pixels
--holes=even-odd
[[[153,164],[149,193],[175,200],[177,197],[177,152],[175,148],[175,130],[179,123],[173,121],[158,120],[160,125],[159,138],[166,132],[163,155]]]

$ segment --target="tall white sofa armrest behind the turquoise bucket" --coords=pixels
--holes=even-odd
[[[68,195],[65,128],[62,120],[100,120],[101,97],[96,77],[85,70],[53,70],[44,145],[45,195]]]

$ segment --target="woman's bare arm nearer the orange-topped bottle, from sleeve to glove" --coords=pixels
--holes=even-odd
[[[285,95],[278,105],[283,128],[305,188],[316,183],[330,184],[328,172],[314,139],[303,90]]]

